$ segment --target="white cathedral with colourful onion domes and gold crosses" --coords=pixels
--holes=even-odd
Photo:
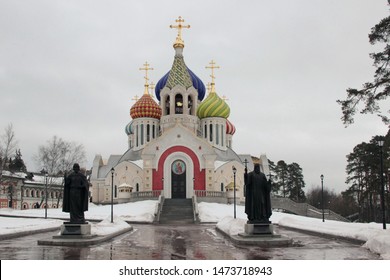
[[[204,83],[184,61],[182,29],[179,17],[171,28],[178,30],[173,44],[171,69],[155,85],[151,95],[148,63],[144,93],[130,108],[125,126],[128,150],[103,160],[93,161],[92,202],[115,203],[137,199],[209,197],[210,201],[228,197],[236,186],[236,199],[244,199],[244,168],[253,170],[250,155],[233,150],[236,128],[229,121],[230,108],[217,93],[211,61],[211,83]],[[155,101],[155,99],[157,101]],[[268,160],[260,157],[268,174]],[[228,201],[228,200],[226,200]]]

